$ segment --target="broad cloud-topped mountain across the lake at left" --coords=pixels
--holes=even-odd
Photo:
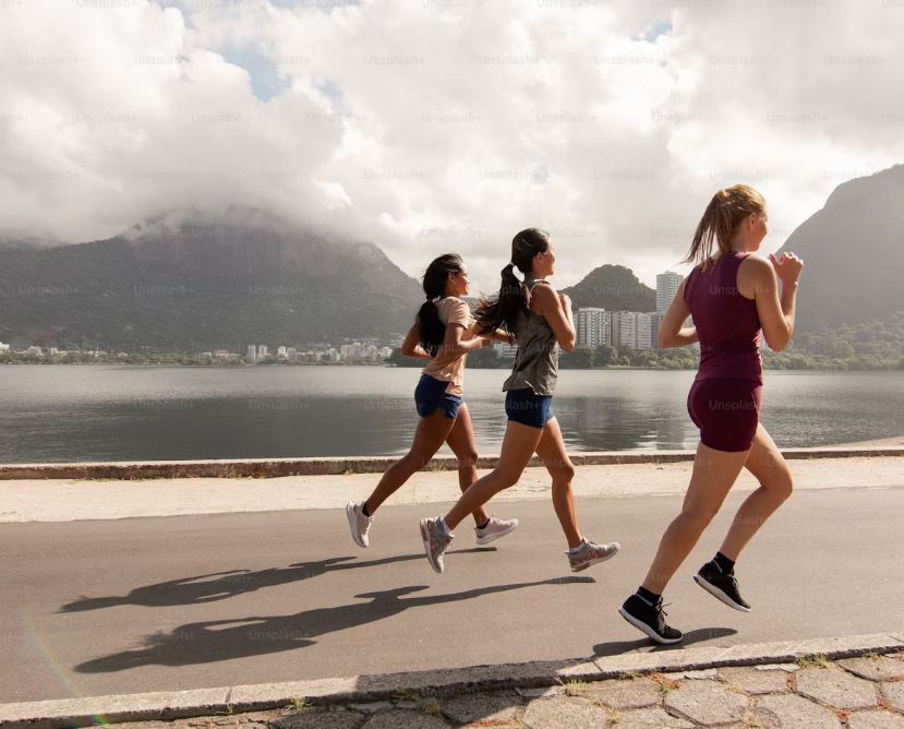
[[[423,295],[370,242],[266,216],[168,216],[89,243],[0,247],[0,342],[244,351],[406,332]]]

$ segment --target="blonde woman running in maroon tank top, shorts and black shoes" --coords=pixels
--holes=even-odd
[[[804,262],[756,254],[767,234],[766,201],[736,184],[715,193],[694,236],[685,263],[697,264],[665,313],[660,348],[700,343],[700,368],[687,409],[700,429],[694,474],[682,513],[665,530],[643,585],[619,609],[656,643],[677,643],[682,632],[665,623],[662,593],[747,468],[760,487],[742,504],[715,558],[694,576],[700,587],[736,610],[740,597],[734,564],[742,549],[791,495],[787,464],[759,423],[766,336],[775,351],[794,330],[794,300]],[[779,279],[782,282],[781,297]],[[688,315],[692,327],[685,327]]]

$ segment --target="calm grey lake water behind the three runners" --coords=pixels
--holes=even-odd
[[[507,375],[467,371],[481,453],[499,451]],[[384,367],[0,367],[0,463],[400,454],[418,421],[419,377]],[[565,370],[553,410],[572,452],[692,449],[692,379]],[[785,447],[900,435],[904,372],[767,372],[761,420]]]

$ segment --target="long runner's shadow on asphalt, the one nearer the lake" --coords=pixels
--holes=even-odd
[[[457,549],[447,553],[448,558],[455,559],[456,554],[472,554],[475,552],[495,552],[495,547],[475,547],[472,549]],[[411,560],[423,560],[423,552],[420,554],[401,554],[387,557],[382,560],[369,562],[352,562],[355,557],[334,557],[318,562],[298,562],[288,567],[274,567],[270,570],[230,570],[229,572],[215,572],[208,575],[195,577],[182,577],[170,579],[156,585],[136,587],[129,595],[109,597],[81,597],[60,608],[60,612],[81,612],[85,610],[99,610],[111,608],[117,605],[140,605],[146,608],[168,608],[179,605],[203,605],[225,600],[238,595],[254,593],[263,587],[277,585],[289,585],[302,579],[320,577],[327,572],[338,570],[360,570],[362,567],[377,567],[394,562],[408,562]]]

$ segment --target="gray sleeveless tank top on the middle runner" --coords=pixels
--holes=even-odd
[[[529,291],[537,280],[525,279]],[[515,369],[503,384],[503,392],[530,387],[534,395],[551,396],[558,380],[558,342],[553,327],[543,316],[528,310],[518,318],[514,334],[518,344]]]

